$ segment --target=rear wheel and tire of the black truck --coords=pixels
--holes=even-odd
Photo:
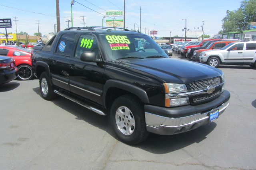
[[[40,75],[39,85],[42,98],[45,100],[52,100],[56,97],[52,82],[46,72],[42,72]]]

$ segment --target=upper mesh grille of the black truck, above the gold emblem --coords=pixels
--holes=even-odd
[[[190,90],[202,90],[202,89],[206,89],[207,86],[217,86],[219,85],[220,82],[220,77],[215,77],[215,78],[210,78],[207,80],[202,80],[202,81],[198,81],[198,82],[192,82],[189,84],[190,86]]]

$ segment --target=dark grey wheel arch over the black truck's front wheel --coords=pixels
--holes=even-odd
[[[114,102],[116,98],[124,94],[133,94],[142,103],[149,103],[148,95],[145,90],[119,80],[107,80],[103,92],[102,100],[106,109],[110,108],[111,103]]]

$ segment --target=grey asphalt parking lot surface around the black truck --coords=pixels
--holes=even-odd
[[[108,117],[41,98],[37,79],[0,85],[0,170],[255,170],[256,70],[220,70],[231,98],[219,119],[136,146],[116,138]]]

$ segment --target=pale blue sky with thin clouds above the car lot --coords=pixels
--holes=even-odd
[[[83,26],[81,16],[85,16],[85,26],[102,26],[102,17],[108,10],[123,10],[124,0],[75,0],[73,5],[73,26]],[[242,0],[126,0],[125,24],[129,30],[140,27],[141,32],[148,34],[148,30],[157,30],[159,37],[184,36],[182,29],[187,19],[187,29],[191,31],[200,27],[204,21],[204,34],[213,36],[222,30],[221,20],[227,10],[236,10]],[[59,0],[60,30],[68,28],[67,20],[71,18],[71,0]],[[86,8],[88,7],[88,8]],[[90,9],[89,9],[90,8]],[[94,10],[94,11],[93,11]],[[0,18],[11,18],[12,28],[8,32],[15,33],[15,19],[17,31],[33,35],[54,32],[56,24],[56,0],[1,0]],[[98,13],[97,13],[98,12]],[[110,19],[106,17],[106,19]],[[116,19],[123,19],[122,16]],[[71,26],[71,23],[69,23]],[[104,23],[105,25],[105,23]],[[0,28],[0,32],[5,32]]]

